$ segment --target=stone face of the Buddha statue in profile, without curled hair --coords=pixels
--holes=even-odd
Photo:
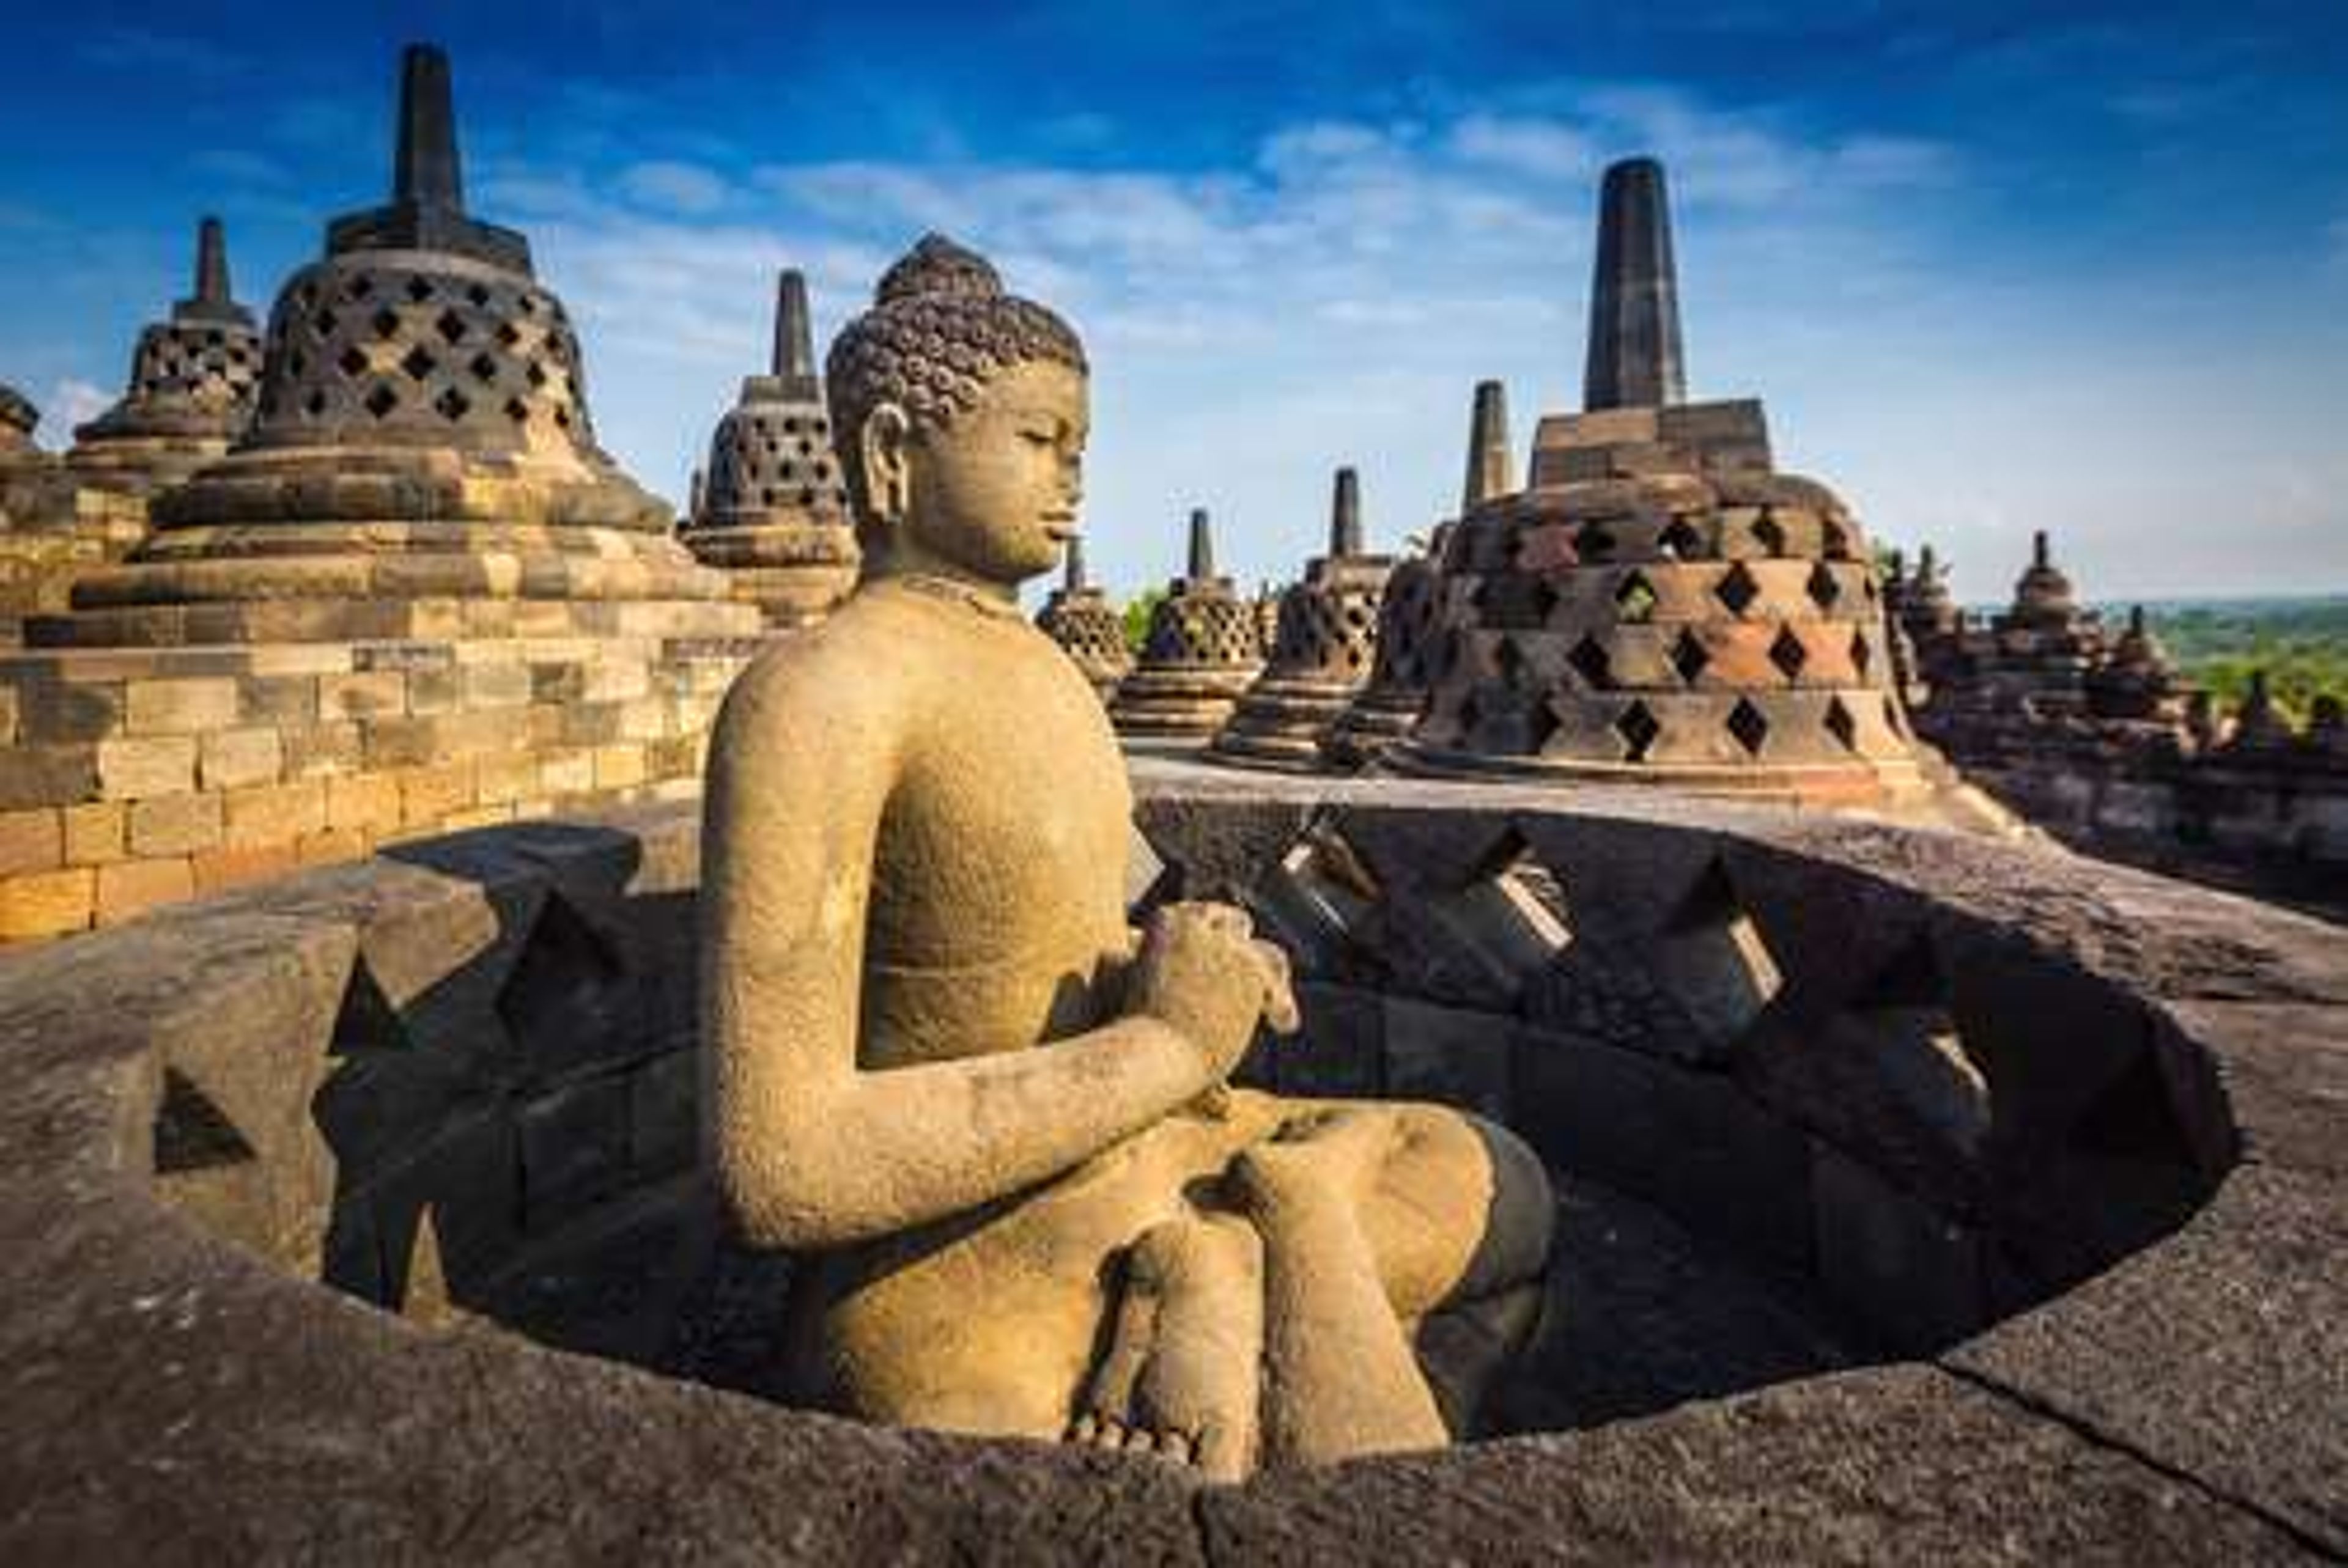
[[[1017,584],[1052,570],[1082,500],[1085,376],[1031,359],[991,376],[949,430],[904,439],[906,566]]]

